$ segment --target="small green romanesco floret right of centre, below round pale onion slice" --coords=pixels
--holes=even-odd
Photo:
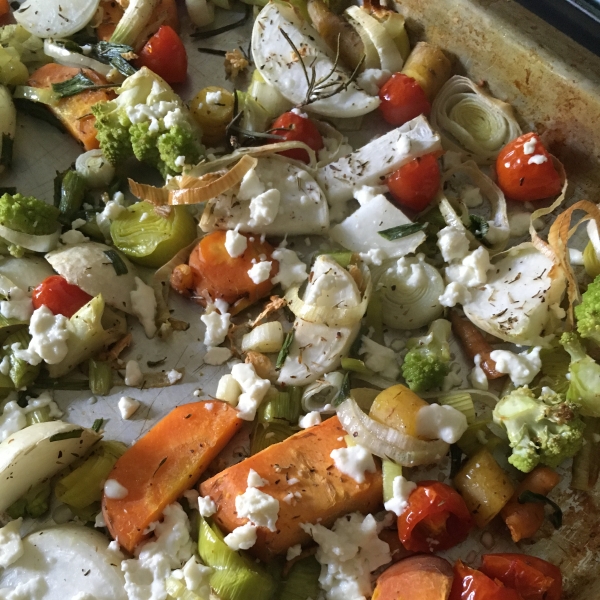
[[[448,321],[437,319],[429,326],[427,335],[406,343],[409,351],[404,357],[402,375],[411,390],[426,392],[442,385],[450,372],[450,331]]]

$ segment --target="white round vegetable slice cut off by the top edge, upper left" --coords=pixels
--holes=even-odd
[[[68,37],[94,18],[99,4],[100,0],[25,0],[13,15],[33,35]]]

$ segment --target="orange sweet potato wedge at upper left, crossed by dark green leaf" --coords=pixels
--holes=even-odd
[[[97,85],[106,85],[108,81],[91,69],[76,69],[74,67],[64,67],[57,63],[48,63],[34,71],[27,85],[37,88],[49,88],[53,83],[60,83],[75,77],[80,71],[83,71],[86,77],[89,77]],[[112,100],[115,93],[111,89],[87,90],[62,98],[56,105],[49,107],[50,110],[60,119],[61,123],[67,128],[69,133],[83,144],[86,150],[98,148],[96,139],[96,128],[94,123],[96,117],[92,115],[91,108],[97,102]]]

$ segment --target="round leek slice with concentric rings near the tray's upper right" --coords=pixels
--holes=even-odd
[[[436,96],[431,125],[441,131],[446,150],[490,164],[500,150],[521,135],[510,104],[491,96],[467,77],[451,77]]]

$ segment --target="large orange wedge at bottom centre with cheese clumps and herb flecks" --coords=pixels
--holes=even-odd
[[[301,523],[318,521],[329,527],[349,512],[376,510],[383,502],[380,466],[376,473],[365,473],[365,482],[358,484],[338,471],[330,457],[332,450],[345,447],[345,435],[338,418],[332,417],[202,483],[201,494],[210,496],[217,505],[213,517],[217,525],[229,533],[246,523],[237,516],[235,499],[246,491],[250,469],[269,482],[261,491],[279,500],[277,531],[259,527],[258,539],[250,550],[265,561],[310,540]]]

